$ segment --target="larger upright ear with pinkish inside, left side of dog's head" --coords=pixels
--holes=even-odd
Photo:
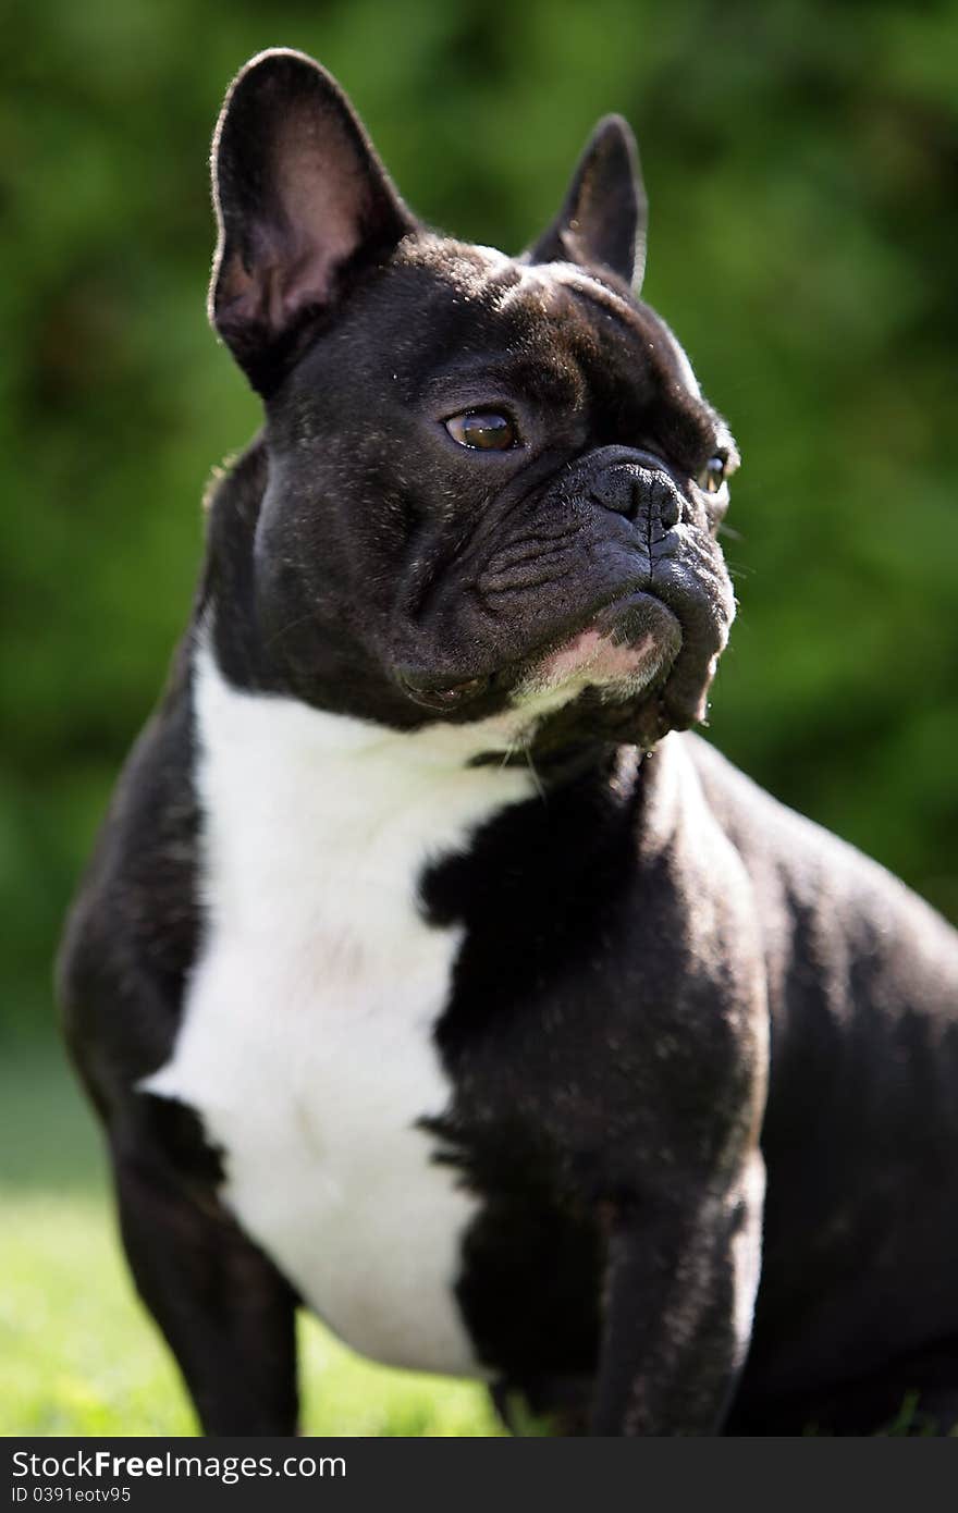
[[[233,80],[213,136],[209,316],[268,395],[353,280],[416,225],[334,79],[274,48]]]

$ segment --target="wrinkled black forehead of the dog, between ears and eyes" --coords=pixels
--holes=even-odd
[[[578,390],[610,380],[680,402],[701,401],[692,365],[670,330],[624,284],[575,263],[524,263],[492,247],[419,238],[397,259],[422,281],[456,359],[499,359],[533,390]],[[434,325],[434,322],[430,322]],[[560,398],[555,393],[555,398]]]

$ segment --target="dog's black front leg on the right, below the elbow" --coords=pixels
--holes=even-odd
[[[675,1194],[675,1197],[672,1197]],[[670,1185],[608,1216],[592,1434],[717,1434],[752,1324],[764,1168]]]

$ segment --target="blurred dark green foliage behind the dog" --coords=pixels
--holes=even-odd
[[[870,0],[8,0],[0,917],[48,962],[257,407],[204,322],[206,144],[262,47],[325,62],[409,201],[507,248],[621,110],[648,298],[745,455],[711,734],[958,914],[958,9]]]

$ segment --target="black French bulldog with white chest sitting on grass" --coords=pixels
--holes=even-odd
[[[949,1431],[958,935],[692,731],[739,457],[630,129],[509,257],[274,50],[213,195],[265,427],[59,961],[204,1433],[295,1431],[298,1306],[507,1427]]]

